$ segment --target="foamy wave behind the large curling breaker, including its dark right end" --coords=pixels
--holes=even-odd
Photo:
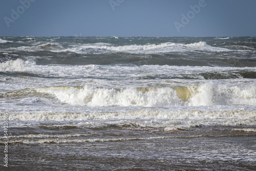
[[[8,55],[8,53],[6,53]],[[16,57],[16,56],[15,56]],[[105,73],[108,70],[108,73]],[[126,73],[123,73],[123,71]],[[131,71],[140,71],[133,73]],[[234,68],[234,67],[189,67],[189,66],[101,66],[101,65],[36,65],[32,60],[9,60],[0,63],[1,72],[26,72],[23,74],[37,74],[50,77],[108,77],[118,73],[120,76],[127,76],[140,79],[233,79],[233,78],[256,78],[256,70],[252,67]],[[86,71],[86,72],[84,72]],[[153,73],[158,71],[158,74]],[[184,74],[185,73],[185,74]]]

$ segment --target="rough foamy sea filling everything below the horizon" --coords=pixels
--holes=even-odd
[[[255,170],[255,78],[256,37],[1,37],[0,168]]]

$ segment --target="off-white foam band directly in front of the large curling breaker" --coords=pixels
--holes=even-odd
[[[117,125],[121,127],[130,127],[131,129],[159,129],[162,131],[187,129],[199,125],[255,125],[255,117],[255,111],[246,110],[136,110],[119,112],[95,111],[81,113],[42,111],[35,113],[25,112],[9,114],[10,121],[80,121],[76,124],[72,123],[70,125],[49,125],[55,128],[61,128],[65,126],[107,127],[108,125]],[[1,119],[2,118],[3,117],[1,116]],[[19,122],[19,124],[22,123]]]

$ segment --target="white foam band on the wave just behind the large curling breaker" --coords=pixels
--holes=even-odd
[[[30,57],[37,58],[37,57]],[[180,77],[190,76],[196,79],[204,79],[198,73],[209,73],[209,72],[223,72],[223,74],[234,71],[249,71],[255,72],[256,68],[234,68],[234,67],[190,67],[190,66],[158,66],[158,65],[147,65],[147,66],[100,66],[100,65],[86,65],[86,66],[71,66],[71,65],[48,65],[39,66],[35,65],[35,62],[24,61],[22,59],[10,60],[7,62],[0,63],[0,70],[5,71],[26,71],[32,74],[40,74],[46,77],[106,77],[112,79],[113,77]],[[108,72],[106,72],[108,71]],[[158,71],[157,74],[155,71]],[[220,73],[222,74],[222,73]],[[236,73],[232,73],[236,74]],[[238,77],[239,74],[237,74]]]

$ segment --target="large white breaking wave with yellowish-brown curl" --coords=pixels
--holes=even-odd
[[[36,89],[63,103],[80,106],[199,106],[255,105],[256,86],[221,86],[207,81],[199,86],[106,89],[95,87],[48,87]]]

